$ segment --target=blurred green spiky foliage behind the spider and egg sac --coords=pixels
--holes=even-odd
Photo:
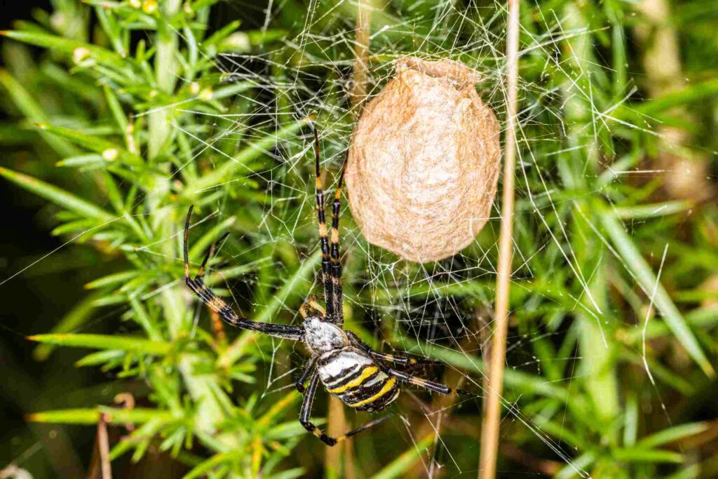
[[[102,477],[100,414],[115,477],[477,475],[480,400],[411,391],[325,451],[296,420],[303,348],[217,327],[181,281],[195,204],[192,262],[230,231],[208,282],[244,315],[298,322],[318,292],[307,117],[332,185],[358,113],[358,4],[19,7],[1,20],[3,477]],[[370,95],[397,57],[461,60],[504,124],[503,4],[363,8]],[[498,475],[717,477],[718,6],[521,11]],[[443,361],[421,373],[481,394],[498,211],[461,254],[416,265],[366,244],[345,208],[348,329]],[[323,396],[322,427],[369,419]]]

